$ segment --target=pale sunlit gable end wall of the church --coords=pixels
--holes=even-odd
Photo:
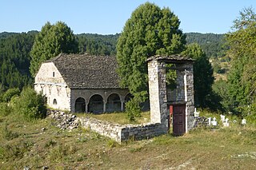
[[[70,110],[70,89],[52,62],[41,65],[35,77],[34,89],[46,96],[50,108]]]

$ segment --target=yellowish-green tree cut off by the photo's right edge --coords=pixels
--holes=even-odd
[[[256,110],[256,14],[246,8],[234,20],[234,32],[226,35],[231,69],[228,75],[230,108],[235,113]],[[254,110],[254,111],[255,111]]]

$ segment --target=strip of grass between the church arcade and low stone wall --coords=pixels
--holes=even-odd
[[[143,112],[142,117],[137,117],[136,121],[130,122],[126,117],[126,113],[103,113],[103,114],[92,114],[92,113],[76,113],[78,117],[94,117],[98,120],[109,121],[112,123],[118,123],[120,125],[126,124],[143,124],[150,122],[150,112]]]

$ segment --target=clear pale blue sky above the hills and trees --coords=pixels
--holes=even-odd
[[[225,34],[239,11],[256,9],[256,0],[0,0],[0,33],[41,30],[46,22],[62,21],[74,34],[117,34],[145,2],[169,7],[183,33]]]

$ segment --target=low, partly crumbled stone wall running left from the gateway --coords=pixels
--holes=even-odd
[[[167,127],[159,123],[143,125],[119,125],[108,121],[98,120],[92,117],[76,117],[62,111],[48,110],[48,117],[56,121],[56,126],[61,129],[89,128],[102,136],[110,137],[121,143],[129,139],[142,140],[159,136],[167,132]]]

